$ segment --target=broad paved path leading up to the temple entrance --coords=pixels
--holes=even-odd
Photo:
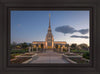
[[[54,52],[53,50],[47,50],[44,53],[38,53],[38,58],[30,63],[69,63],[62,58],[60,53]]]

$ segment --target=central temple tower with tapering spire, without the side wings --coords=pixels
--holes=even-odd
[[[45,39],[45,45],[47,49],[54,48],[54,38],[52,35],[51,25],[50,25],[50,14],[49,14],[49,27],[48,27],[48,32]]]

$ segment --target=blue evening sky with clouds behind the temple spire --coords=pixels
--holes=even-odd
[[[11,43],[45,41],[49,14],[54,41],[89,45],[89,11],[17,11],[11,15]]]

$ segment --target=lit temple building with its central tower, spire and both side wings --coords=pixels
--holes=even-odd
[[[51,24],[50,24],[50,14],[49,14],[49,27],[48,32],[45,38],[45,41],[33,41],[32,42],[33,47],[36,48],[37,46],[41,48],[41,45],[43,45],[43,48],[45,49],[52,49],[56,48],[56,45],[58,45],[58,48],[65,47],[67,44],[66,41],[54,41],[54,37],[51,30]]]

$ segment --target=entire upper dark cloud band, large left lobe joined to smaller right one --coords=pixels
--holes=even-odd
[[[75,28],[68,26],[68,25],[56,27],[55,31],[61,32],[61,33],[64,33],[64,34],[67,34],[67,33],[72,34],[74,32],[79,32],[81,34],[87,34],[88,33],[88,29],[75,30]]]

